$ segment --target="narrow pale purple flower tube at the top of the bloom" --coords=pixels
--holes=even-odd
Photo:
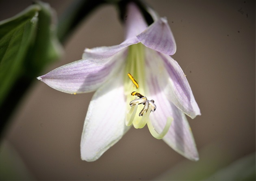
[[[133,2],[127,6],[127,15],[124,19],[126,38],[133,39],[137,34],[143,32],[147,27],[147,23],[141,14],[137,5]]]

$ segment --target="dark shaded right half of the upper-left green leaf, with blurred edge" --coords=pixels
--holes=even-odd
[[[58,59],[62,47],[56,36],[56,16],[48,3],[37,1],[41,11],[38,15],[36,36],[31,43],[26,60],[24,62],[26,75],[35,78],[39,76],[43,68]]]

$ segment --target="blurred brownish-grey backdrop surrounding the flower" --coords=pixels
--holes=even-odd
[[[44,2],[59,16],[72,0]],[[255,152],[255,2],[146,2],[167,17],[177,43],[172,57],[187,75],[201,109],[202,116],[188,118],[200,160],[187,160],[144,127],[131,128],[97,161],[82,161],[80,136],[93,93],[65,94],[35,78],[1,138],[1,169],[20,158],[20,165],[12,167],[20,173],[10,178],[15,174],[20,174],[18,179],[39,180],[145,180],[163,174],[176,180],[200,178]],[[30,4],[31,0],[1,0],[0,19]],[[63,58],[44,73],[80,60],[85,47],[117,45],[123,38],[115,7],[102,6],[78,26],[64,45]],[[2,161],[8,156],[12,160]]]

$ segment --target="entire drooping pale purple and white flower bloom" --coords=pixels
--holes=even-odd
[[[98,159],[130,125],[148,125],[152,136],[163,138],[184,157],[198,160],[185,114],[193,119],[200,109],[182,69],[170,57],[176,52],[176,43],[167,20],[150,10],[154,23],[148,26],[133,3],[128,4],[127,12],[124,42],[85,49],[82,60],[38,79],[65,93],[96,91],[82,131],[83,160]],[[127,73],[133,75],[138,88]]]

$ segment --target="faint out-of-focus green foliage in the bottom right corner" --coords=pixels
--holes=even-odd
[[[200,160],[183,159],[154,180],[254,181],[255,152],[237,158],[222,142],[207,144],[199,151]]]

